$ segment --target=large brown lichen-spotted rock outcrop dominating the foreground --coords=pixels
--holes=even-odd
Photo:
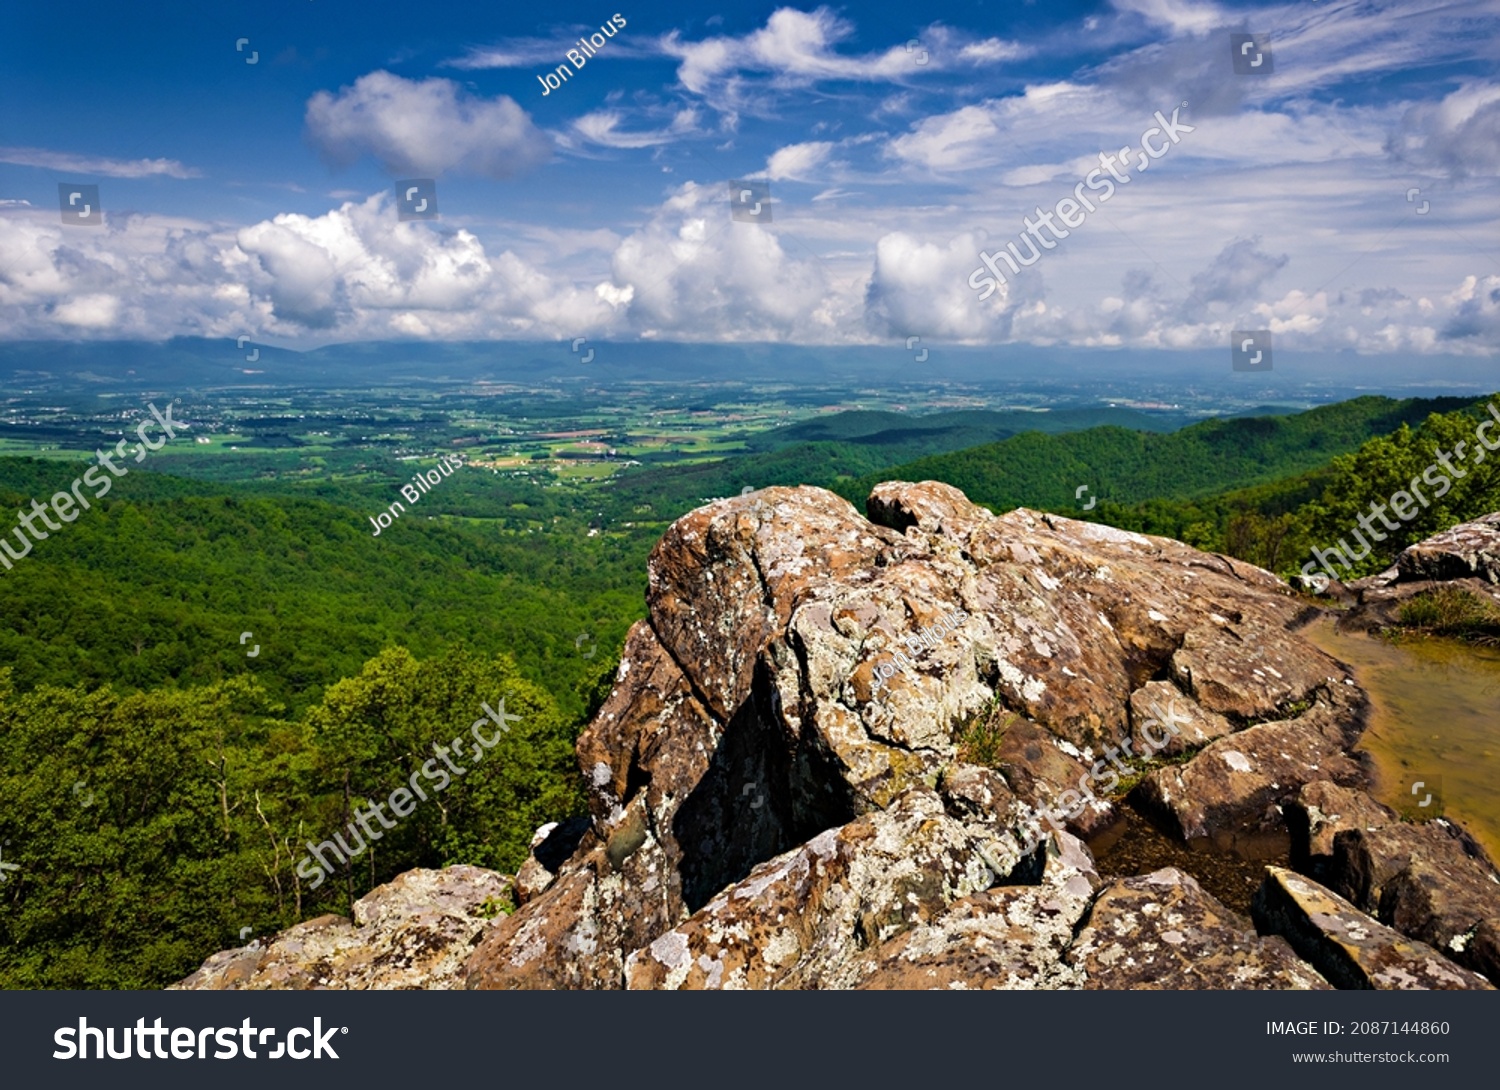
[[[1329,987],[1186,873],[1203,853],[1296,858],[1352,928],[1491,972],[1488,861],[1365,795],[1366,697],[1281,580],[932,481],[867,511],[766,489],[672,525],[578,741],[590,813],[538,829],[512,915],[453,924],[446,985]],[[1149,831],[1125,807],[1179,868],[1101,868],[1086,841]]]

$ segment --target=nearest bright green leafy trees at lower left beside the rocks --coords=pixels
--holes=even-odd
[[[438,768],[424,805],[372,826],[372,804],[500,700],[514,721],[488,729],[483,760],[454,751],[462,774]],[[412,867],[514,871],[537,825],[582,808],[572,726],[504,655],[392,649],[296,718],[246,676],[18,696],[0,669],[0,841],[18,867],[0,886],[0,988],[159,988]],[[352,856],[309,882],[306,844],[336,834]]]

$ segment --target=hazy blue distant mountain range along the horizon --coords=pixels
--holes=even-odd
[[[1086,382],[1178,382],[1236,400],[1335,400],[1360,393],[1464,393],[1496,385],[1492,360],[1278,352],[1276,369],[1236,373],[1228,348],[1178,352],[1000,345],[902,343],[858,346],[694,345],[668,342],[357,342],[306,351],[254,339],[174,337],[164,342],[18,340],[0,343],[0,384],[64,391],[162,390],[195,385],[369,387],[444,382],[693,381],[854,387],[1071,388]],[[573,351],[574,343],[578,351]],[[590,354],[592,355],[590,357]],[[924,354],[920,357],[920,354]],[[588,363],[584,360],[588,358]],[[1316,396],[1310,397],[1310,393]],[[1126,394],[1120,394],[1126,396]]]

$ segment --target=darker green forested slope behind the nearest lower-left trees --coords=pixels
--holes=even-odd
[[[0,505],[50,496],[75,472],[0,459]],[[368,514],[399,498],[394,487],[350,492],[369,504],[351,510],[294,486],[132,472],[0,576],[0,666],[22,691],[248,673],[296,711],[384,648],[429,655],[462,642],[506,652],[576,715],[590,648],[618,646],[640,615],[656,534],[590,538],[576,517],[525,532],[530,511],[501,502],[519,487],[456,474],[375,537]],[[472,493],[494,519],[432,517]],[[536,504],[538,493],[525,495]]]

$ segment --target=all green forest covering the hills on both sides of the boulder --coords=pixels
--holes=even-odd
[[[411,867],[513,871],[537,825],[582,813],[573,742],[644,615],[651,546],[705,498],[813,483],[862,505],[879,480],[945,480],[996,511],[1096,519],[1293,574],[1467,442],[1464,475],[1352,573],[1365,574],[1500,508],[1500,456],[1480,460],[1474,441],[1488,400],[1024,432],[904,463],[909,442],[945,441],[819,421],[594,490],[465,471],[378,538],[368,517],[408,466],[132,472],[0,576],[0,858],[16,867],[0,883],[0,987],[159,988],[242,936],[346,913]],[[0,459],[0,510],[76,472]],[[309,841],[501,699],[519,720],[483,762],[310,888]]]

